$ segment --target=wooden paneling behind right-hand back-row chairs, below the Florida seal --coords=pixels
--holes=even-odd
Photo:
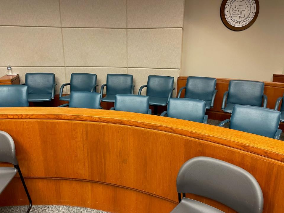
[[[178,89],[177,94],[180,88],[185,86],[187,80],[187,76],[180,76],[178,78]],[[225,91],[228,90],[229,82],[231,79],[227,78],[217,78],[216,89],[218,90],[214,107],[209,109],[206,114],[208,114],[209,119],[214,120],[225,120],[230,119],[230,113],[225,113],[221,110],[223,95]],[[282,97],[284,93],[284,83],[276,83],[276,82],[267,82],[264,81],[264,94],[267,95],[267,108],[274,109],[275,102],[278,97]],[[180,97],[184,97],[184,91]],[[280,125],[280,128],[284,130],[284,125]]]

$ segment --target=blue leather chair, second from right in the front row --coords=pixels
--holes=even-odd
[[[167,111],[161,116],[189,120],[199,123],[207,123],[208,115],[205,115],[206,102],[198,99],[170,98]]]

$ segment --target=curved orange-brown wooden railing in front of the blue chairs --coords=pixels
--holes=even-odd
[[[178,201],[180,166],[210,156],[254,175],[265,213],[284,212],[283,141],[167,117],[75,108],[1,108],[0,130],[15,141],[33,204],[170,212]],[[23,204],[16,177],[0,195],[0,205]]]

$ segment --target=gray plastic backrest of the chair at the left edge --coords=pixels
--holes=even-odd
[[[4,131],[0,131],[0,162],[18,164],[13,138]]]

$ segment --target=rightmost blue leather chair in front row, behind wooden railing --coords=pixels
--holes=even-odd
[[[279,139],[282,130],[278,129],[281,113],[274,109],[259,106],[235,105],[231,120],[222,121],[219,126],[230,122],[230,129],[239,130],[268,138]]]

